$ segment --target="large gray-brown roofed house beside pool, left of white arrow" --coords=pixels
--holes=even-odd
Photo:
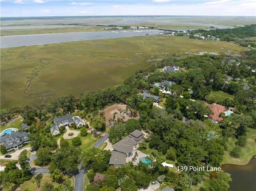
[[[109,164],[120,167],[126,163],[126,158],[133,155],[138,144],[144,139],[144,134],[135,130],[119,142],[113,145]]]

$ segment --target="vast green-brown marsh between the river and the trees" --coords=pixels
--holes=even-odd
[[[180,52],[225,54],[228,50],[244,52],[226,41],[151,35],[1,49],[1,108],[114,87],[150,66],[147,59],[166,58],[162,52],[186,57]]]

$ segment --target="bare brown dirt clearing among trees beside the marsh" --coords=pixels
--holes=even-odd
[[[117,116],[119,116],[120,112],[118,111],[118,109],[122,109],[122,110],[126,110],[126,104],[114,104],[112,106],[109,106],[108,108],[105,108],[103,110],[100,110],[100,112],[105,112],[105,118],[106,118],[106,124],[109,124],[109,119],[113,118],[113,114],[114,112],[117,112],[118,114],[116,114],[116,118]],[[126,113],[124,113],[124,121],[127,121],[128,119],[131,119],[133,117],[131,117],[130,112],[127,111]]]

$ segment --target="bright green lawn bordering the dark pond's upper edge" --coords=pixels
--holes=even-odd
[[[247,144],[246,148],[242,149],[240,158],[233,158],[229,155],[230,151],[234,148],[236,139],[229,138],[228,140],[228,151],[224,154],[224,159],[221,164],[236,164],[246,165],[250,159],[256,155],[256,129],[248,128],[247,131]]]

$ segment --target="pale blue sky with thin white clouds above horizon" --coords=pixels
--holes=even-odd
[[[256,16],[256,0],[0,0],[1,17]]]

